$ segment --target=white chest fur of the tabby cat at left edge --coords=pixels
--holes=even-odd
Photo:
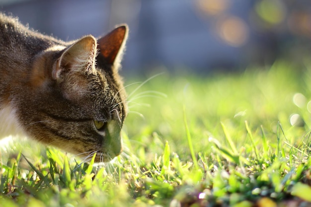
[[[10,106],[0,108],[0,139],[9,136],[22,136],[23,134],[15,116],[15,110]]]

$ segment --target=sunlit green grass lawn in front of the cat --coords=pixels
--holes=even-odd
[[[238,74],[164,73],[138,85],[127,87],[135,93],[126,149],[111,163],[82,163],[18,138],[2,146],[0,207],[311,203],[311,69],[280,61]]]

